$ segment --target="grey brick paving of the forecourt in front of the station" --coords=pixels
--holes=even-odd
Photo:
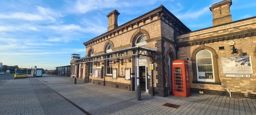
[[[57,92],[57,93],[56,93]],[[0,115],[256,115],[256,100],[216,95],[151,97],[61,76],[0,82]],[[64,98],[63,98],[64,97]],[[65,100],[68,99],[68,100]],[[180,105],[178,109],[162,106]]]

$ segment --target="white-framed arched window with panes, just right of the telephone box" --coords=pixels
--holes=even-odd
[[[197,80],[215,82],[213,54],[209,50],[200,50],[196,54]]]

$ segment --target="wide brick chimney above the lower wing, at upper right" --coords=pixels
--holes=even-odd
[[[232,5],[232,0],[223,0],[215,3],[210,7],[213,12],[213,26],[232,22],[229,7]]]

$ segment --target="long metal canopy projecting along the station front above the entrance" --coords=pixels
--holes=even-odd
[[[128,51],[132,51],[132,54],[128,54]],[[108,55],[112,55],[112,54],[115,54],[115,57],[107,58]],[[111,51],[108,53],[97,54],[91,57],[80,58],[76,60],[76,64],[102,61],[102,60],[108,60],[108,59],[114,59],[114,58],[130,57],[130,56],[136,56],[136,55],[151,57],[153,61],[155,61],[155,50],[137,46],[137,47],[131,47],[131,48],[124,48],[117,51]]]

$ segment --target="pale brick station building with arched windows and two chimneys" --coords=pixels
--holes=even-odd
[[[113,10],[108,32],[83,43],[85,57],[71,57],[71,77],[135,91],[139,65],[141,90],[166,97],[173,94],[171,61],[181,59],[191,93],[256,99],[256,17],[232,21],[231,5],[213,4],[213,27],[195,31],[162,5],[120,26]]]

